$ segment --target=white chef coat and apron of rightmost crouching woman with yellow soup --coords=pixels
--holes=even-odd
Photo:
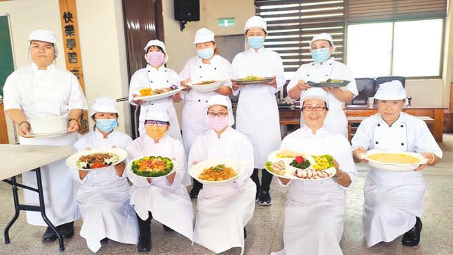
[[[392,126],[379,113],[367,117],[351,142],[353,147],[367,150],[432,152],[442,158],[425,122],[407,113],[401,113]],[[414,227],[415,216],[422,214],[425,187],[421,171],[390,172],[371,167],[365,180],[362,219],[367,247],[391,242]]]

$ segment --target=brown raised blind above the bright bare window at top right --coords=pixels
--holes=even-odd
[[[444,18],[447,0],[349,0],[348,23]]]

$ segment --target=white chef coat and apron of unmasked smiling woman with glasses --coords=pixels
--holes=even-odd
[[[329,154],[338,162],[340,170],[351,178],[349,187],[356,179],[356,166],[349,142],[343,135],[331,133],[324,126],[316,134],[303,126],[287,135],[280,149],[314,155]],[[271,254],[297,255],[301,251],[310,255],[343,254],[339,243],[343,235],[346,188],[335,182],[334,178],[291,180],[288,185],[283,227],[285,247]]]

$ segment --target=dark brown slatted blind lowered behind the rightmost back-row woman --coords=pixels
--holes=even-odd
[[[309,41],[329,33],[336,46],[333,56],[343,62],[345,1],[343,0],[256,0],[256,15],[267,21],[264,46],[279,53],[286,72],[311,62]]]

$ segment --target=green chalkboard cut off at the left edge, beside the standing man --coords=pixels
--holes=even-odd
[[[14,71],[10,25],[7,15],[0,15],[0,95],[3,96],[3,86],[6,77]]]

